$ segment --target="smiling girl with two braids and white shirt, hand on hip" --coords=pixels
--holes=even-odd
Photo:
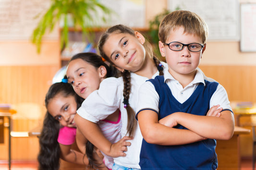
[[[77,110],[75,123],[98,149],[116,157],[112,170],[138,170],[142,135],[134,112],[138,102],[137,92],[141,84],[162,75],[167,67],[153,56],[149,43],[141,33],[124,25],[115,25],[103,33],[98,49],[106,61],[121,71],[122,77],[104,79],[99,89],[91,93]],[[112,144],[101,134],[97,122],[116,109],[122,113],[123,138]]]

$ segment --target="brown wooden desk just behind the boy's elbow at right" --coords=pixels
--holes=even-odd
[[[250,129],[235,126],[230,140],[217,140],[216,153],[218,156],[217,170],[240,170],[239,135],[249,134]]]

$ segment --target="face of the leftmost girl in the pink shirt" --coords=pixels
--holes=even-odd
[[[62,126],[76,127],[74,116],[77,104],[74,96],[63,96],[59,93],[49,100],[47,110],[49,114],[58,120]]]

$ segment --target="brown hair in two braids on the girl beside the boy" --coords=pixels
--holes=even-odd
[[[133,29],[131,29],[125,25],[122,25],[122,24],[110,27],[106,32],[104,32],[101,35],[99,42],[98,42],[98,50],[99,50],[100,55],[106,61],[108,61],[110,63],[112,63],[112,62],[110,61],[110,58],[104,53],[103,46],[105,45],[110,34],[112,34],[112,33],[115,33],[115,34],[128,33],[128,34],[135,36]],[[163,75],[162,67],[159,66],[160,61],[154,56],[151,44],[148,41],[146,41],[143,45],[146,50],[146,55],[153,58],[155,65],[158,67],[159,75]],[[124,70],[124,72],[122,72],[121,75],[123,77],[123,103],[127,105],[127,107],[125,107],[127,110],[127,117],[128,117],[127,133],[129,134],[129,136],[134,136],[134,132],[135,132],[137,123],[135,120],[135,112],[134,112],[133,108],[129,105],[129,97],[130,97],[131,87],[132,87],[131,73],[128,70]]]

